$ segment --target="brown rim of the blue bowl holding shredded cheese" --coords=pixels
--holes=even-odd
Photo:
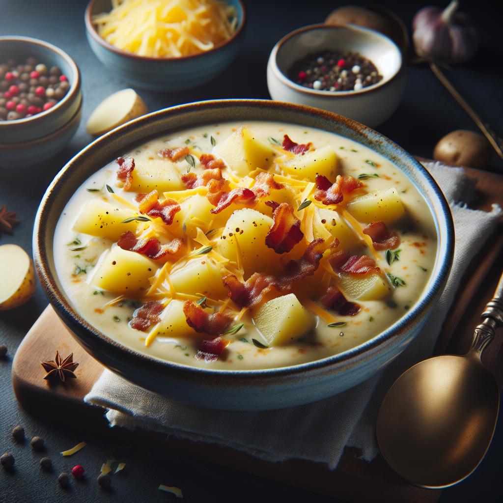
[[[100,34],[96,30],[96,27],[91,19],[91,11],[93,10],[96,2],[97,2],[97,0],[90,0],[89,4],[86,7],[86,11],[84,13],[86,30],[89,33],[89,35],[93,38],[93,40],[95,40],[98,44],[100,44],[102,47],[104,47],[108,51],[114,52],[118,56],[123,56],[123,57],[129,58],[129,59],[134,59],[134,60],[139,60],[139,61],[157,61],[157,62],[160,62],[160,61],[163,61],[163,62],[186,61],[186,60],[190,60],[190,59],[197,59],[199,57],[202,57],[202,56],[205,56],[208,54],[212,54],[214,52],[217,52],[217,51],[223,49],[225,46],[227,46],[232,41],[234,41],[241,34],[241,32],[243,31],[244,26],[246,24],[246,10],[244,8],[244,3],[242,2],[242,0],[236,0],[236,2],[239,4],[239,6],[241,8],[241,22],[239,23],[235,32],[232,34],[232,36],[230,38],[228,38],[227,40],[224,40],[223,42],[218,43],[217,45],[212,47],[209,51],[200,52],[198,54],[191,54],[190,56],[180,56],[178,58],[174,58],[174,57],[172,57],[172,58],[157,58],[155,56],[139,56],[138,54],[134,54],[133,52],[124,51],[122,49],[119,49],[118,47],[115,47],[112,44],[109,44],[104,38],[102,38],[100,36]]]

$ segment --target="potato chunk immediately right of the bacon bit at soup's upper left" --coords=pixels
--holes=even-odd
[[[138,161],[133,171],[132,192],[167,192],[183,190],[180,174],[175,164],[167,159],[147,159]]]

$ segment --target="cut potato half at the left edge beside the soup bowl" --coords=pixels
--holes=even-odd
[[[13,309],[28,301],[37,283],[33,262],[17,244],[0,246],[0,311]]]

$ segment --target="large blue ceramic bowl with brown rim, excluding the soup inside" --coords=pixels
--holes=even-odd
[[[53,236],[59,216],[74,191],[122,152],[152,137],[225,121],[282,121],[338,133],[367,145],[402,171],[428,203],[438,248],[431,278],[420,299],[370,341],[322,360],[265,370],[212,370],[140,354],[113,341],[75,311],[58,279]],[[410,154],[376,131],[330,112],[262,100],[220,100],[154,112],[118,127],[71,159],[45,193],[35,219],[35,264],[40,283],[76,341],[125,379],[179,402],[205,408],[264,410],[314,402],[364,381],[397,357],[421,332],[449,276],[454,228],[449,206],[433,178]]]

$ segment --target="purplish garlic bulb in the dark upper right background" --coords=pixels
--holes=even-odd
[[[458,5],[452,0],[443,12],[425,7],[414,16],[412,40],[418,56],[463,63],[475,54],[477,31],[466,14],[456,12]]]

